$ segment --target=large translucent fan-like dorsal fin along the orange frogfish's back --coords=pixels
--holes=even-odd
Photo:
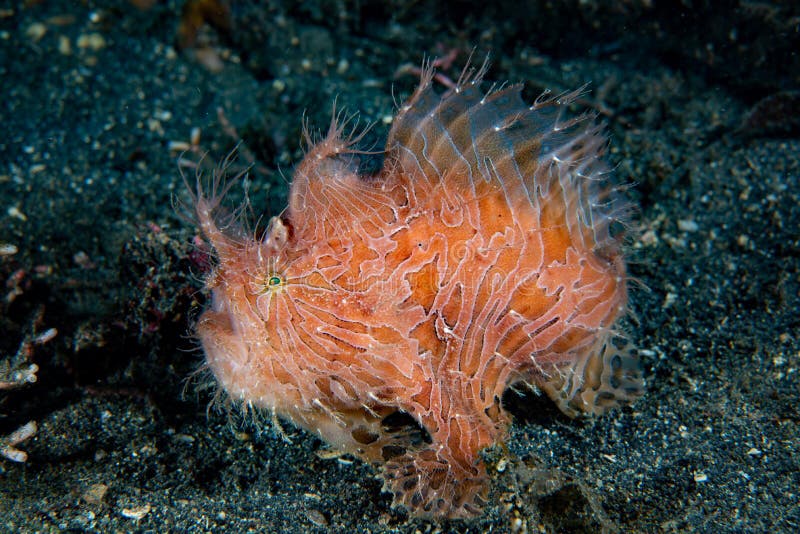
[[[609,225],[623,209],[604,179],[602,127],[589,115],[566,113],[583,88],[545,93],[527,105],[521,84],[483,92],[484,72],[485,66],[465,70],[456,87],[440,96],[432,69],[423,69],[419,87],[394,120],[387,160],[414,174],[415,187],[433,190],[447,182],[476,195],[502,190],[515,213],[531,207],[539,212],[543,200],[560,197],[560,218],[573,238],[590,249],[614,245]],[[449,189],[441,188],[445,194]]]

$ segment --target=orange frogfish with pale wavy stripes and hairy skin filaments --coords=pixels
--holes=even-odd
[[[481,512],[510,386],[571,417],[643,389],[617,325],[627,204],[602,127],[568,118],[577,92],[529,105],[519,85],[484,92],[484,71],[438,94],[423,69],[371,175],[334,113],[261,233],[222,209],[221,173],[193,193],[216,258],[196,327],[216,381],[374,464],[413,517]]]

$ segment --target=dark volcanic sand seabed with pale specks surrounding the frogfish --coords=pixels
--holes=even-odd
[[[38,382],[0,392],[0,436],[39,426],[26,463],[0,458],[1,530],[800,528],[800,9],[236,2],[182,50],[180,2],[110,4],[0,8],[0,362],[58,331],[31,346]],[[647,393],[571,421],[510,392],[507,449],[486,452],[491,505],[437,525],[392,510],[369,466],[208,410],[207,380],[187,383],[207,257],[177,159],[193,128],[184,158],[207,152],[204,168],[241,137],[255,215],[276,214],[304,115],[326,128],[336,98],[380,146],[392,95],[416,82],[395,71],[455,49],[456,77],[473,48],[526,98],[591,82],[575,111],[600,114],[615,179],[636,183],[630,331]]]

